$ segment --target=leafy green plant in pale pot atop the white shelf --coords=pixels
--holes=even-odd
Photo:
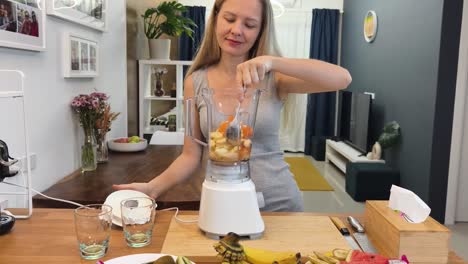
[[[150,57],[153,59],[169,59],[171,50],[170,39],[160,39],[167,35],[178,37],[182,33],[192,37],[195,23],[190,19],[183,17],[182,12],[187,8],[176,2],[162,2],[155,8],[148,8],[142,15],[145,35],[149,40]]]

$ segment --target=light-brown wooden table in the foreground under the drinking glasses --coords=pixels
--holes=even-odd
[[[180,214],[197,214],[184,211]],[[103,261],[119,256],[139,253],[160,253],[167,235],[173,211],[158,212],[154,227],[153,241],[143,248],[129,248],[124,242],[122,229],[113,228],[110,247]],[[323,215],[316,213],[264,213],[264,215]],[[344,215],[338,215],[345,217]],[[213,251],[213,255],[215,252]],[[213,256],[190,257],[196,263],[215,263]],[[0,263],[96,263],[82,260],[79,256],[73,224],[73,210],[39,208],[27,220],[17,220],[14,229],[0,236]],[[450,253],[449,264],[463,264],[461,258]]]

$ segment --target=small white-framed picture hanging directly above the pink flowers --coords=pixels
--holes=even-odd
[[[96,40],[66,33],[63,42],[63,76],[65,78],[98,76],[99,45]]]

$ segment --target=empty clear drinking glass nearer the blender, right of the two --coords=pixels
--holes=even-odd
[[[121,201],[122,227],[130,247],[144,247],[151,243],[156,203],[149,197],[134,197]]]

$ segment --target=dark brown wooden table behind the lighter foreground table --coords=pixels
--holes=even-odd
[[[109,161],[95,171],[77,171],[43,193],[80,204],[103,203],[112,193],[112,184],[148,182],[163,172],[182,153],[182,146],[149,145],[142,152],[110,152]],[[177,206],[181,210],[198,210],[204,174],[197,171],[189,180],[177,185],[157,199],[158,208]],[[76,206],[36,195],[34,208],[75,208]]]

